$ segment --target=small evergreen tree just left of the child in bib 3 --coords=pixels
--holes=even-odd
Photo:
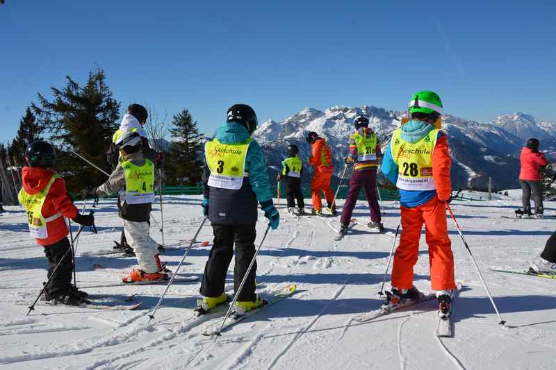
[[[170,185],[195,185],[202,175],[200,155],[202,155],[202,135],[197,129],[197,121],[193,121],[188,110],[182,110],[172,117],[172,143],[170,158],[165,161],[165,173]]]

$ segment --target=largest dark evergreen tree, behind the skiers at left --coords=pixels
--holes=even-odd
[[[79,85],[66,76],[67,85],[62,90],[51,87],[52,101],[38,94],[40,107],[32,105],[40,125],[51,134],[50,141],[58,146],[56,167],[66,176],[70,192],[99,185],[106,180],[106,176],[67,148],[108,173],[111,170],[105,154],[119,126],[120,103],[113,99],[105,78],[101,69],[90,71],[85,85]]]

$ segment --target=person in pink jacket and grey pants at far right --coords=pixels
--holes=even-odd
[[[543,195],[541,191],[541,167],[548,165],[544,154],[539,152],[539,140],[531,138],[521,149],[519,155],[521,171],[519,171],[519,185],[521,185],[521,203],[523,210],[516,210],[518,217],[530,217],[531,195],[534,200],[534,216],[541,218],[543,215]]]

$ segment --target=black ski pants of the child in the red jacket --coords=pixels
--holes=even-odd
[[[68,250],[69,252],[65,255]],[[44,254],[47,256],[48,260],[48,278],[54,273],[54,269],[58,266],[58,262],[62,260],[60,266],[56,270],[56,274],[54,274],[47,287],[49,294],[51,296],[67,294],[72,290],[72,272],[74,269],[70,240],[64,237],[54,244],[45,245]]]

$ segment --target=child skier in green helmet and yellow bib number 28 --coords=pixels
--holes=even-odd
[[[442,102],[431,91],[421,91],[409,103],[411,119],[393,132],[384,153],[382,173],[400,190],[403,232],[392,268],[392,294],[385,305],[422,296],[413,286],[423,223],[429,246],[432,289],[441,310],[449,310],[454,280],[454,257],[448,237],[445,203],[451,201],[448,140],[440,131]]]

